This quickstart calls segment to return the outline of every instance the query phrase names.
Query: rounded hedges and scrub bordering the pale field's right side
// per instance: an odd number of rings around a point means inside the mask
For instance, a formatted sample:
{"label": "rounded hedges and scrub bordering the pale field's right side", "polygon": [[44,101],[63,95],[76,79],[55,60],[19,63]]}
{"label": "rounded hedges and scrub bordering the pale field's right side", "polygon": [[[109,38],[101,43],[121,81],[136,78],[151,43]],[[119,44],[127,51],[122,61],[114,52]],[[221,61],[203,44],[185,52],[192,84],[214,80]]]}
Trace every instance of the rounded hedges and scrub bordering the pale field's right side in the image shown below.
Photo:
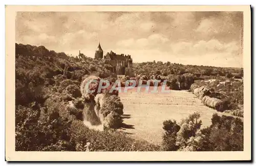
{"label": "rounded hedges and scrub bordering the pale field's right side", "polygon": [[219,80],[212,82],[198,81],[189,91],[198,96],[202,102],[219,112],[226,111],[234,116],[243,117],[243,82],[229,80],[220,84]]}

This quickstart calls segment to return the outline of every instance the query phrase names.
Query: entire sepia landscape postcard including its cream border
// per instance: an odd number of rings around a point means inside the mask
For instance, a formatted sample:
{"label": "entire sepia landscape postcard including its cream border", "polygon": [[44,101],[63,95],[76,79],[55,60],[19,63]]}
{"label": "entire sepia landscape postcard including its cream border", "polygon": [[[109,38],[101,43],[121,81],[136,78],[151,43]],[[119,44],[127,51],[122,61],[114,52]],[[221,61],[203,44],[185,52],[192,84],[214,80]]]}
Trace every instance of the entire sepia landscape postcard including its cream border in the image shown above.
{"label": "entire sepia landscape postcard including its cream border", "polygon": [[251,159],[250,6],[6,12],[7,160]]}

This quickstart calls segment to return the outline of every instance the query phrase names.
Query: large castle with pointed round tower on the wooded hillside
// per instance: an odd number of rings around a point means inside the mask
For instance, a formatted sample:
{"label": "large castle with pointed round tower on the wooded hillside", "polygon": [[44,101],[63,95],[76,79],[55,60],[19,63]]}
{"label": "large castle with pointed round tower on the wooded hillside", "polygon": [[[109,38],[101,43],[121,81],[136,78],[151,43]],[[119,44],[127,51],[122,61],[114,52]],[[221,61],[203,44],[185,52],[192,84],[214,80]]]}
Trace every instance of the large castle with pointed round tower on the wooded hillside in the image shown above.
{"label": "large castle with pointed round tower on the wooded hillside", "polygon": [[116,72],[117,75],[131,75],[132,73],[133,59],[130,55],[126,56],[110,51],[103,56],[100,43],[95,51],[95,59],[103,59],[105,64],[113,66],[113,71]]}

